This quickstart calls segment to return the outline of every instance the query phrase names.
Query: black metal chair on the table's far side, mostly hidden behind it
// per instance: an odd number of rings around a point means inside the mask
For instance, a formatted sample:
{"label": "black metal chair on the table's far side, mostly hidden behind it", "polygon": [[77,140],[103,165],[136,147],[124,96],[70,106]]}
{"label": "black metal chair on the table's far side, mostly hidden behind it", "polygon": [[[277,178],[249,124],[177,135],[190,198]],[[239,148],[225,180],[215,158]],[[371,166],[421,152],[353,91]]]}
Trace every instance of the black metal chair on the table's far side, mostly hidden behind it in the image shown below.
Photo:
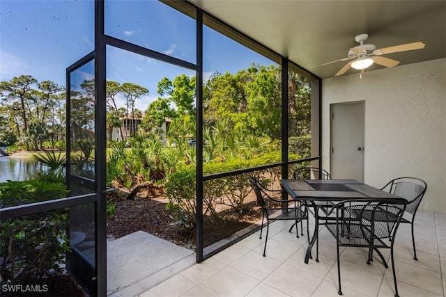
{"label": "black metal chair on the table's far side, mostly hidden behind it", "polygon": [[[293,179],[331,179],[330,173],[328,173],[326,170],[323,170],[321,168],[316,167],[303,167],[298,168],[294,170],[293,172]],[[308,202],[304,202],[304,205],[307,209],[309,209],[310,204]],[[319,216],[319,222],[321,222],[321,225],[325,225],[325,223],[328,223],[328,209],[332,207],[333,203],[330,201],[313,201],[311,203],[311,206],[314,208],[314,211],[321,210],[323,215]],[[308,233],[308,221],[307,221],[307,233]],[[319,255],[319,240],[316,239],[316,262],[319,262],[318,259]],[[310,255],[310,257],[312,257]]]}

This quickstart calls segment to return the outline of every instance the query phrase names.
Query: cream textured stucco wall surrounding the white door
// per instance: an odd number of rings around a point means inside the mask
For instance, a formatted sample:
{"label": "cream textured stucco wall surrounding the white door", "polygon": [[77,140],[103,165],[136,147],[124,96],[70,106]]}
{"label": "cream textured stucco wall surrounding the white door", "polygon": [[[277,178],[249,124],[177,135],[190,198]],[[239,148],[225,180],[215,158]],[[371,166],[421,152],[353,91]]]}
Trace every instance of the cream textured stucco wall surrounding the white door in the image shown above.
{"label": "cream textured stucco wall surrounding the white door", "polygon": [[420,209],[446,214],[446,58],[325,79],[323,168],[330,168],[330,104],[364,100],[364,182],[424,179]]}

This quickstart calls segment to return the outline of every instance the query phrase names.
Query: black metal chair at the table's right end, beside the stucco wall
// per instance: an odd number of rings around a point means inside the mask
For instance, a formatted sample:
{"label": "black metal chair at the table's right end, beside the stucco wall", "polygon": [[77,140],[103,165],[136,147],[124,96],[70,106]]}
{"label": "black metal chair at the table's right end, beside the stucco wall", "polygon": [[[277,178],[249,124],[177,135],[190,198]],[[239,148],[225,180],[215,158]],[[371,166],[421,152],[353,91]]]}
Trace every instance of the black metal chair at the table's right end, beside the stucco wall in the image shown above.
{"label": "black metal chair at the table's right end, beside the stucco wall", "polygon": [[398,177],[388,182],[382,190],[388,191],[401,198],[409,201],[406,206],[406,211],[412,214],[411,218],[402,218],[401,223],[410,223],[412,229],[412,243],[413,243],[413,259],[418,260],[417,250],[415,249],[415,236],[413,234],[413,222],[415,214],[417,214],[418,206],[426,193],[427,184],[424,180],[417,177]]}

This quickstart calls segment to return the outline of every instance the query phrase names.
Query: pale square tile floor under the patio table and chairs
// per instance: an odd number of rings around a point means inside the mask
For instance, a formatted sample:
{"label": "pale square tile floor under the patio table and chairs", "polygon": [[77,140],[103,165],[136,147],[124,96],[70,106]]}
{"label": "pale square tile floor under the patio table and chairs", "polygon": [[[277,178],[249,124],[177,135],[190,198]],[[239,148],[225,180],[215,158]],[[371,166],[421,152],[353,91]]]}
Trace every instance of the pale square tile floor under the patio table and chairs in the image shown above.
{"label": "pale square tile floor under the patio table and chairs", "polygon": [[[257,232],[139,297],[338,296],[336,245],[328,230],[323,227],[320,232],[320,262],[310,259],[305,264],[307,240],[297,239],[288,227],[286,221],[270,225],[266,257],[265,239]],[[401,224],[394,246],[399,295],[445,296],[446,214],[419,211],[415,239],[418,261],[413,260],[410,225]],[[390,250],[383,250],[383,255],[390,262]],[[392,269],[385,269],[378,259],[367,265],[366,258],[366,250],[341,250],[344,296],[394,296]]]}

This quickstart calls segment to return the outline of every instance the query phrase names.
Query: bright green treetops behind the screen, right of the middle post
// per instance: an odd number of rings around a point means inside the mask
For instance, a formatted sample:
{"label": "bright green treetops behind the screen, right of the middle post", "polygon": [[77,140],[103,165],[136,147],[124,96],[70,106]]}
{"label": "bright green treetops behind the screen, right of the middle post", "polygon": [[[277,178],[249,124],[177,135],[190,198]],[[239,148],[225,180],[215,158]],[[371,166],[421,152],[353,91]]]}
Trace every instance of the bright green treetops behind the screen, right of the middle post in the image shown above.
{"label": "bright green treetops behind the screen, right of the middle post", "polygon": [[[279,66],[253,64],[236,74],[213,74],[203,86],[206,122],[229,118],[234,129],[241,128],[249,134],[271,139],[280,138],[281,71]],[[290,136],[308,134],[311,88],[307,79],[291,71],[288,100]]]}

